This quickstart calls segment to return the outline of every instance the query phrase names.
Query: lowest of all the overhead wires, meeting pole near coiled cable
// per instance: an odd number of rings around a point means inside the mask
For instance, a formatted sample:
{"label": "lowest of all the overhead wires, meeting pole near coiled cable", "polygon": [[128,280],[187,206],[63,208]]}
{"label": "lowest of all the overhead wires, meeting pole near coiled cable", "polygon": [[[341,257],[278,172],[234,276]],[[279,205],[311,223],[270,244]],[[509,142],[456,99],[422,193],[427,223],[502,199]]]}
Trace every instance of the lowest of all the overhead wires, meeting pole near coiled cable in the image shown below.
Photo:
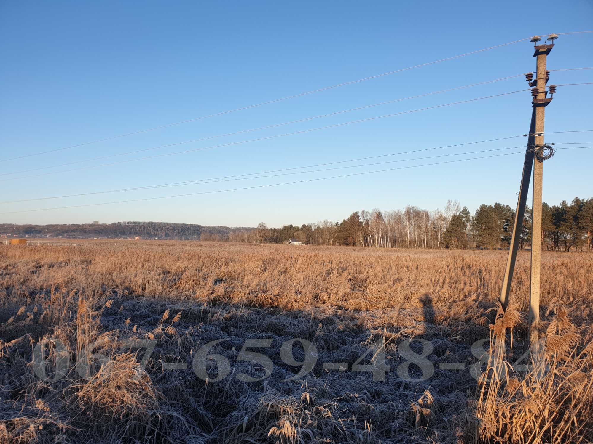
{"label": "lowest of all the overhead wires, meeting pole near coiled cable", "polygon": [[[575,148],[577,148],[577,147],[575,147]],[[585,147],[578,147],[578,148],[585,148]],[[65,210],[68,208],[96,207],[98,205],[124,204],[124,203],[129,203],[129,202],[142,202],[142,201],[151,201],[151,200],[159,200],[159,199],[169,199],[169,198],[175,198],[175,197],[188,197],[188,196],[196,196],[196,195],[202,195],[202,194],[214,194],[214,193],[219,193],[219,192],[240,191],[240,190],[244,190],[244,189],[268,188],[270,186],[303,184],[305,182],[324,181],[324,180],[329,180],[329,179],[361,176],[361,175],[372,174],[372,173],[381,173],[381,172],[395,171],[395,170],[402,170],[402,169],[419,168],[421,166],[444,165],[445,163],[466,162],[467,160],[488,159],[491,157],[510,156],[510,155],[521,154],[521,153],[522,153],[522,151],[518,151],[518,152],[514,152],[514,153],[497,154],[497,155],[491,155],[491,156],[469,157],[468,159],[456,159],[456,160],[447,160],[445,162],[423,163],[420,165],[409,165],[409,166],[401,166],[398,168],[388,168],[388,169],[382,169],[382,170],[365,171],[365,172],[360,172],[360,173],[350,173],[350,174],[339,175],[339,176],[330,176],[330,177],[315,178],[315,179],[305,179],[302,181],[282,182],[279,184],[255,185],[255,186],[246,186],[246,187],[242,187],[242,188],[219,189],[219,190],[215,190],[215,191],[201,191],[201,192],[195,192],[195,193],[176,194],[176,195],[159,196],[159,197],[148,197],[148,198],[123,200],[123,201],[99,202],[99,203],[95,203],[95,204],[69,205],[69,206],[65,206],[65,207],[38,208],[36,210],[3,211],[3,212],[0,212],[0,214],[31,213],[31,212],[36,212],[36,211]]]}

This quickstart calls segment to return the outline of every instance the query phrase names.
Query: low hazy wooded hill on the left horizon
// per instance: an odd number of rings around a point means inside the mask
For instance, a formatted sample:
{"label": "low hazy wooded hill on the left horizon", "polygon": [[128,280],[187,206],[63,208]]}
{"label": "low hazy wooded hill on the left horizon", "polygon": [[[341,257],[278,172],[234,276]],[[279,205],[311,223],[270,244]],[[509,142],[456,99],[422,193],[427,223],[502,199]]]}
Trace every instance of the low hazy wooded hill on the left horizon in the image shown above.
{"label": "low hazy wooded hill on the left horizon", "polygon": [[65,225],[15,225],[0,224],[0,235],[14,237],[66,237],[70,239],[171,239],[200,240],[215,237],[227,240],[229,234],[253,228],[207,227],[197,224],[174,224],[168,222],[116,222],[112,224],[65,224]]}

